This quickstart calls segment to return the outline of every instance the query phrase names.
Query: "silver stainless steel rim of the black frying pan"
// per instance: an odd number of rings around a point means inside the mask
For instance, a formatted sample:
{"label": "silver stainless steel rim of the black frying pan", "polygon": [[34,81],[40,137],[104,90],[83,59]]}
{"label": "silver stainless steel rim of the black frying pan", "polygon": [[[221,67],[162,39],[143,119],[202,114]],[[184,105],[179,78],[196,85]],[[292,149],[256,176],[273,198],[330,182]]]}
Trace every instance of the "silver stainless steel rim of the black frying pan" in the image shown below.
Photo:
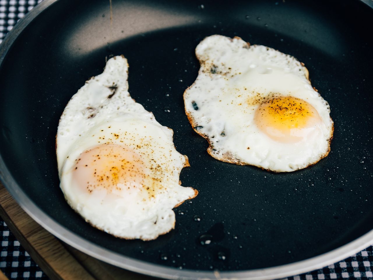
{"label": "silver stainless steel rim of the black frying pan", "polygon": [[[3,62],[7,52],[10,50],[10,47],[15,42],[18,35],[21,34],[23,29],[25,29],[35,17],[37,17],[41,12],[47,9],[48,6],[56,1],[58,0],[44,0],[38,4],[15,25],[9,34],[7,34],[3,43],[0,45],[0,65]],[[108,249],[104,249],[92,242],[88,242],[82,237],[79,237],[69,229],[62,227],[59,223],[41,211],[41,209],[38,208],[38,206],[33,203],[29,197],[25,195],[25,193],[22,192],[22,188],[16,183],[15,179],[10,174],[10,171],[5,166],[1,156],[0,178],[5,184],[7,190],[19,203],[22,209],[25,210],[25,212],[30,215],[30,217],[33,218],[38,224],[63,242],[73,246],[76,249],[79,249],[84,253],[87,253],[90,256],[93,256],[94,258],[100,259],[112,265],[116,265],[117,267],[154,277],[162,277],[165,279],[278,279],[325,267],[341,261],[342,259],[347,258],[348,256],[351,256],[373,244],[373,230],[371,230],[358,239],[355,239],[354,241],[328,253],[310,259],[305,259],[304,261],[294,262],[292,264],[277,267],[233,272],[192,271],[162,267],[160,265],[149,264],[133,258],[128,258]]]}

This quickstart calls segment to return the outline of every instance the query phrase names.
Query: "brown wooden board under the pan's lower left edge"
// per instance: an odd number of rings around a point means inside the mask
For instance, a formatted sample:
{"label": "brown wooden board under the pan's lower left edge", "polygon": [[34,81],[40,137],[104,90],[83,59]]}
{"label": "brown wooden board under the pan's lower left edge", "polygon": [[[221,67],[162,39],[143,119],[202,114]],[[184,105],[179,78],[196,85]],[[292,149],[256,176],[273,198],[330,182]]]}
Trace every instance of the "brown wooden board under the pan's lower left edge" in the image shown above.
{"label": "brown wooden board under the pan's lower left edge", "polygon": [[[63,243],[32,220],[1,183],[0,216],[31,258],[52,280],[155,279],[107,264]],[[6,276],[1,274],[0,271],[0,280],[6,280]]]}

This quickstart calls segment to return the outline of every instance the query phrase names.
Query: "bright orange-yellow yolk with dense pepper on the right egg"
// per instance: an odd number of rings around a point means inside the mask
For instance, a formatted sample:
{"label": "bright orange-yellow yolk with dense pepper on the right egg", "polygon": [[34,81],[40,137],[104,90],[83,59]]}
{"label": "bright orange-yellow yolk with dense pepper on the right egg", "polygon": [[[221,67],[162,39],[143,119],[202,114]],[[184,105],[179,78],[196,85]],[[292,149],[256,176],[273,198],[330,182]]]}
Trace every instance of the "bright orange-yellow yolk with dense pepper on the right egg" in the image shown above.
{"label": "bright orange-yellow yolk with dense pepper on the right egg", "polygon": [[319,113],[310,103],[292,96],[261,103],[254,118],[261,131],[283,143],[301,141],[322,123]]}

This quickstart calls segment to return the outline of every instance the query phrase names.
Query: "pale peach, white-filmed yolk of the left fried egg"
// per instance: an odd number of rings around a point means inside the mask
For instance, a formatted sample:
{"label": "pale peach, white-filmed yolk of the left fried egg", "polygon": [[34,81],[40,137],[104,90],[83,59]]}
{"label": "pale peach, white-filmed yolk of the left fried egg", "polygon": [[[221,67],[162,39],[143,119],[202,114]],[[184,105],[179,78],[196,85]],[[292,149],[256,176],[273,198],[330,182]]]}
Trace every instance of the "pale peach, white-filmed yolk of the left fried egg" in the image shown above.
{"label": "pale peach, white-filmed yolk of the left fried egg", "polygon": [[72,178],[82,191],[89,193],[96,189],[106,189],[107,193],[138,192],[143,190],[146,177],[143,166],[131,150],[115,144],[101,145],[81,153]]}

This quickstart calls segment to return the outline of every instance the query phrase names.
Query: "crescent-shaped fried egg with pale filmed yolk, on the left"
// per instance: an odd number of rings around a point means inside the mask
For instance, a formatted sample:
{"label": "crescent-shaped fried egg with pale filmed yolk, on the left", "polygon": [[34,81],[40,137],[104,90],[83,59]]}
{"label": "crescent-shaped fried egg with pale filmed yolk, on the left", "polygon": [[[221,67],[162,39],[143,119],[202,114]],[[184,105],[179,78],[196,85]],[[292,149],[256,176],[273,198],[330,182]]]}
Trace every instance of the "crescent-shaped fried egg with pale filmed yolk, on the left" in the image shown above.
{"label": "crescent-shaped fried egg with pale filmed yolk, on the left", "polygon": [[188,158],[173,131],[131,98],[127,76],[127,60],[115,56],[70,99],[56,136],[60,187],[94,227],[152,240],[175,227],[172,208],[198,192],[179,184]]}

